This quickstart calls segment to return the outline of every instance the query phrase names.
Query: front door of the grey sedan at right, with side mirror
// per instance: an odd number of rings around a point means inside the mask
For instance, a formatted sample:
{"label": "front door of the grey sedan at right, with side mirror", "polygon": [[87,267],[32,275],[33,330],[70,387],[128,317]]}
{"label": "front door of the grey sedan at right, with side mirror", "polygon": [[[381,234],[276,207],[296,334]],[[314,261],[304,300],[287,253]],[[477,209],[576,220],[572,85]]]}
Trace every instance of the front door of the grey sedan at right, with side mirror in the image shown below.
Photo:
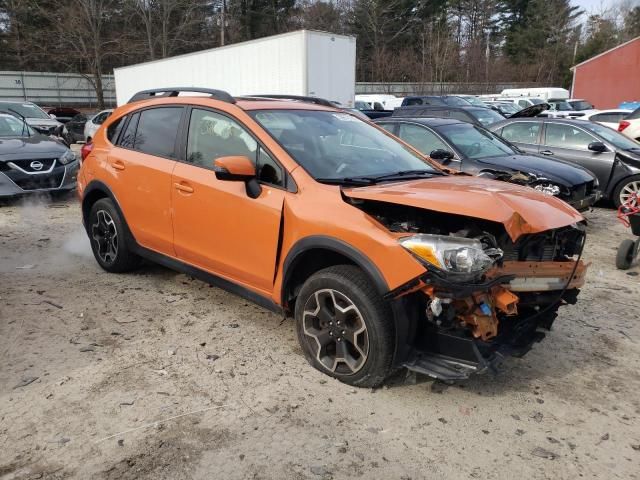
{"label": "front door of the grey sedan at right, with side mirror", "polygon": [[591,142],[601,140],[576,125],[546,121],[540,153],[576,163],[590,170],[598,177],[601,189],[606,191],[616,154],[611,150],[593,152],[588,148]]}

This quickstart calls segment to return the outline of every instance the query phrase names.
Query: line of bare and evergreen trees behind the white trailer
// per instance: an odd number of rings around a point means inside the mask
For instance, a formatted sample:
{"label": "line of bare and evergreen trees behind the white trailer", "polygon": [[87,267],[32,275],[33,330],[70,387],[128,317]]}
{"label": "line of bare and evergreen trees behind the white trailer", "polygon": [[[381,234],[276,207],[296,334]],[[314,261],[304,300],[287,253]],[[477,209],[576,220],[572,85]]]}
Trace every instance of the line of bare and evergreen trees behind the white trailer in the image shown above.
{"label": "line of bare and evergreen trees behind the white trailer", "polygon": [[0,69],[114,67],[301,28],[355,35],[357,79],[567,85],[569,67],[640,35],[640,0],[0,0]]}

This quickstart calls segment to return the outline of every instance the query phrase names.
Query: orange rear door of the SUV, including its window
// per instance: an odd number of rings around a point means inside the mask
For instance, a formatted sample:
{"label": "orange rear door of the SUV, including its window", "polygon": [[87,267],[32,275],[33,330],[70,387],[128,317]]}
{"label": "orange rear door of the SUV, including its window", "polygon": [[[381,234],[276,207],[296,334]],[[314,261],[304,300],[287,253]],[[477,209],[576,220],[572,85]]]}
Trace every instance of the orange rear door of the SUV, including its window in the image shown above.
{"label": "orange rear door of the SUV, including its window", "polygon": [[171,174],[183,112],[181,106],[162,106],[128,115],[107,156],[109,185],[136,241],[171,256]]}

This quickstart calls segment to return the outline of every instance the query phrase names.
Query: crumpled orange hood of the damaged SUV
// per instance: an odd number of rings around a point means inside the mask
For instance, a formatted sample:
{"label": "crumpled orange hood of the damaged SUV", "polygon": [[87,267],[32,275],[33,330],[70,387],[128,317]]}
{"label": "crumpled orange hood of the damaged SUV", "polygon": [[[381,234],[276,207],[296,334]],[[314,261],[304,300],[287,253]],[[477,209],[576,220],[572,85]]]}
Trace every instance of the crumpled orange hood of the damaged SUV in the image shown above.
{"label": "crumpled orange hood of the damaged SUV", "polygon": [[528,187],[478,177],[446,176],[346,188],[354,199],[395,203],[502,223],[513,241],[583,219],[562,200]]}

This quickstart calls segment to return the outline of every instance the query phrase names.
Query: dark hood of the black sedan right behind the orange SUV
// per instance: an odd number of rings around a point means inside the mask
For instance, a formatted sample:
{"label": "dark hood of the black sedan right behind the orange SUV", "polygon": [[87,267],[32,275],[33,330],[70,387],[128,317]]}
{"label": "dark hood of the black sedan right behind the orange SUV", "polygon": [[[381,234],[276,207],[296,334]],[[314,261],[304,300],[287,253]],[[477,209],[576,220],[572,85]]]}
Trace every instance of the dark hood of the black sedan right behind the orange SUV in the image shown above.
{"label": "dark hood of the black sedan right behind the orange SUV", "polygon": [[591,182],[595,178],[585,168],[538,155],[504,155],[474,161],[481,168],[493,167],[508,172],[532,173],[569,188]]}

